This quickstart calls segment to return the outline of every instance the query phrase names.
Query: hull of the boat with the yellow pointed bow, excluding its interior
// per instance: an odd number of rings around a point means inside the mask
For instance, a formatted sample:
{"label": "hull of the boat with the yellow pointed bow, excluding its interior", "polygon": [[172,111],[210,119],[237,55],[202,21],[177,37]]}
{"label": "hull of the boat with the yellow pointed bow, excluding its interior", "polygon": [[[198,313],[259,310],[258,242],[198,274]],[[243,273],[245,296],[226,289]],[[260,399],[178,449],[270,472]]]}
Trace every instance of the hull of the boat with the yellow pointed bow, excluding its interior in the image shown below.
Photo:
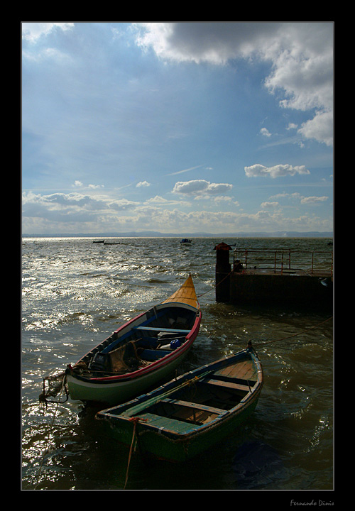
{"label": "hull of the boat with the yellow pointed bow, excluding its interior", "polygon": [[[180,323],[184,320],[185,314],[185,329],[180,329],[181,327],[174,328],[174,324],[170,322],[166,326],[169,319],[173,320],[174,314],[178,314],[176,322],[179,321]],[[201,319],[202,312],[197,302],[195,287],[190,275],[180,289],[168,300],[122,325],[108,339],[105,339],[99,346],[82,357],[74,367],[67,366],[65,378],[70,397],[72,400],[103,402],[111,406],[140,395],[175,371],[190,351],[200,330]],[[163,320],[165,320],[164,325],[162,324]],[[153,321],[156,322],[154,323],[155,326],[153,326]],[[94,354],[98,351],[110,353],[116,346],[121,346],[122,343],[129,344],[132,332],[137,330],[142,336],[137,343],[147,339],[145,336],[147,330],[151,331],[149,335],[153,335],[153,331],[155,331],[155,334],[156,331],[163,331],[170,335],[175,335],[176,332],[176,335],[180,335],[179,339],[184,340],[176,348],[174,346],[167,350],[163,346],[162,351],[155,350],[156,356],[154,355],[153,359],[146,359],[148,364],[143,364],[143,366],[131,372],[117,372],[114,375],[104,375],[103,372],[102,376],[98,376],[94,373],[88,375],[87,372],[80,370],[80,363],[88,367],[88,363],[92,361]],[[156,341],[156,337],[154,340]],[[148,349],[147,351],[151,350]]]}

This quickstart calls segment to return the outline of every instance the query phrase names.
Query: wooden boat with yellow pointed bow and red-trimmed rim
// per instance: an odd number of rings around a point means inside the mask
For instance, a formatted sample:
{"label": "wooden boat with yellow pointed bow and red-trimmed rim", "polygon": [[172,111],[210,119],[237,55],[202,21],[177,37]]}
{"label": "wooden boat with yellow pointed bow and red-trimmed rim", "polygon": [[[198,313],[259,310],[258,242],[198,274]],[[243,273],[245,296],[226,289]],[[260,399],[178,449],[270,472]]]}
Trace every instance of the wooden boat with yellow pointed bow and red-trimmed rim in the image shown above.
{"label": "wooden boat with yellow pointed bow and red-trimmed rim", "polygon": [[189,275],[167,300],[130,319],[65,372],[44,378],[48,390],[43,389],[40,400],[53,396],[55,380],[60,383],[63,378],[72,400],[113,406],[140,395],[178,368],[197,337],[201,319]]}

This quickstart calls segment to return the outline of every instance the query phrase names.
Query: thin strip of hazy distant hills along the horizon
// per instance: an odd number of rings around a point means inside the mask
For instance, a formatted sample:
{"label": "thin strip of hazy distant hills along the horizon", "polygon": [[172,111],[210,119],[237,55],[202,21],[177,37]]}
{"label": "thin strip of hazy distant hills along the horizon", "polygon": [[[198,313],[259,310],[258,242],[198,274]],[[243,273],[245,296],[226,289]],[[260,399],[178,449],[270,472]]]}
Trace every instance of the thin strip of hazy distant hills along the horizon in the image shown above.
{"label": "thin strip of hazy distant hills along the horizon", "polygon": [[125,232],[125,233],[58,233],[58,234],[23,234],[23,238],[332,238],[333,233],[329,232],[297,232],[297,231],[275,231],[268,232],[236,232],[236,233],[160,233],[157,231]]}

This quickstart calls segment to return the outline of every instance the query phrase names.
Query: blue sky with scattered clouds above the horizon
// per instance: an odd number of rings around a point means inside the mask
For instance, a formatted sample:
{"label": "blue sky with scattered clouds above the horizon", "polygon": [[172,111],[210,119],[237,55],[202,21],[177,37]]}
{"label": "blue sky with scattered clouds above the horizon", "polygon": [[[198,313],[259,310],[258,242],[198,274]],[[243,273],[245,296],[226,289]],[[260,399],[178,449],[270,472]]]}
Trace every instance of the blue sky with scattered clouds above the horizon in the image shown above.
{"label": "blue sky with scattered clouds above the horizon", "polygon": [[333,229],[333,22],[22,23],[22,232]]}

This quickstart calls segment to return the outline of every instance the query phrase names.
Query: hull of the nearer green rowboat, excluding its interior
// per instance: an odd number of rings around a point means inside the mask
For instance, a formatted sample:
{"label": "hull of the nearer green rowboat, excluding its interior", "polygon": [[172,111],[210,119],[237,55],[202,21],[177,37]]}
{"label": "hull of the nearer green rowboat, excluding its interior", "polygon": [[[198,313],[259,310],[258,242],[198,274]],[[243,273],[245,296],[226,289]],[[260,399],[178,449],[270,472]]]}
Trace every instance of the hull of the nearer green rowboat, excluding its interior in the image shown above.
{"label": "hull of the nearer green rowboat, excluding its interior", "polygon": [[[256,368],[256,381],[253,387],[246,393],[245,397],[230,410],[215,410],[218,414],[214,419],[210,420],[204,425],[193,424],[192,422],[185,422],[182,417],[178,420],[169,419],[165,417],[154,415],[152,411],[152,402],[157,405],[158,400],[164,402],[166,396],[174,397],[174,390],[182,385],[183,381],[197,381],[200,378],[202,382],[206,378],[204,375],[211,369],[226,367],[234,359],[241,358],[246,354],[246,351],[237,353],[234,356],[222,359],[217,363],[209,366],[204,366],[199,370],[191,371],[187,375],[172,380],[170,383],[161,386],[160,388],[150,392],[145,396],[136,398],[129,403],[125,403],[121,407],[115,407],[109,410],[102,410],[97,413],[97,419],[102,422],[104,431],[106,430],[109,436],[119,441],[121,444],[130,445],[133,439],[133,434],[136,434],[139,451],[149,455],[153,455],[160,459],[168,461],[187,461],[205,451],[209,447],[217,444],[217,442],[224,439],[226,436],[236,432],[236,429],[243,424],[246,419],[254,412],[258,403],[258,398],[263,386],[263,372],[261,363],[258,361],[256,353],[249,350],[249,355],[253,359]],[[208,375],[207,375],[208,376]],[[197,391],[198,392],[198,391]],[[176,392],[175,392],[176,393]],[[146,402],[146,408],[144,403]],[[174,402],[174,400],[173,400]],[[175,401],[177,402],[177,401]],[[184,401],[185,403],[185,401]],[[155,406],[154,405],[154,406]],[[192,405],[192,403],[187,403]],[[206,410],[214,410],[210,407],[197,405],[197,407],[205,408]],[[140,410],[138,412],[138,410]],[[135,429],[136,428],[136,429]]]}

